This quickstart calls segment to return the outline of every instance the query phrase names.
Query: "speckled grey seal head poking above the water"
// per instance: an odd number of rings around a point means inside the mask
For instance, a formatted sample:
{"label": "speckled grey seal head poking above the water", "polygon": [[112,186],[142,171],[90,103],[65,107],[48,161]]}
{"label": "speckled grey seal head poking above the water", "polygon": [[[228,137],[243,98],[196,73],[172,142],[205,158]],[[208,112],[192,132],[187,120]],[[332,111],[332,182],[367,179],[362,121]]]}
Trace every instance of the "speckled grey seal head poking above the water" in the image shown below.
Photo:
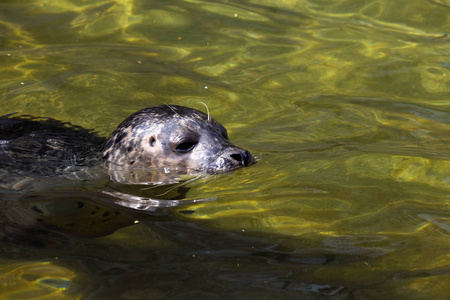
{"label": "speckled grey seal head poking above the water", "polygon": [[187,174],[223,173],[256,162],[247,150],[230,142],[220,123],[176,105],[132,114],[111,134],[102,154],[115,166]]}

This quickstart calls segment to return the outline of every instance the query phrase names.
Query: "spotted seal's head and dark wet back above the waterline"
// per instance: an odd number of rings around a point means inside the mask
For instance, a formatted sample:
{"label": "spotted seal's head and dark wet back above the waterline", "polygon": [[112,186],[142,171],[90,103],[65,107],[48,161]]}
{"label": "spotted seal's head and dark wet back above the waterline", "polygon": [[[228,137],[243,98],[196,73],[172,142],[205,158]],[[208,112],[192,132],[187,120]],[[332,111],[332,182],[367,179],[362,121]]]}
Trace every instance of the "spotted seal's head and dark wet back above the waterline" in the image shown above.
{"label": "spotted seal's head and dark wet back above the waterline", "polygon": [[[11,115],[0,118],[2,187],[13,185],[21,190],[25,183],[38,185],[42,178],[90,180],[95,177],[94,170],[104,169],[102,160],[107,161],[113,181],[133,184],[173,183],[175,180],[152,176],[217,174],[256,162],[247,150],[230,142],[221,124],[183,106],[142,109],[125,119],[108,139],[54,119]],[[150,170],[152,176],[136,180],[136,174]]]}

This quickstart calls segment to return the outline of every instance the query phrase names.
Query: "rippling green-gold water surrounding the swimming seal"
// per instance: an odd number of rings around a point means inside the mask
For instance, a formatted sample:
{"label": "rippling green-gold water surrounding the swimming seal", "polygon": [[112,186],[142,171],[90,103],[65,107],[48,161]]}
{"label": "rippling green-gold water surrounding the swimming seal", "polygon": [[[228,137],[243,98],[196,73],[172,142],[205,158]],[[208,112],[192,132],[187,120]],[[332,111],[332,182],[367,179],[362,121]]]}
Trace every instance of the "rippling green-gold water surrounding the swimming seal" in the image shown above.
{"label": "rippling green-gold water surrounding the swimming seal", "polygon": [[2,242],[0,298],[448,299],[447,34],[447,0],[1,1],[2,115],[106,136],[205,102],[258,164],[113,234]]}

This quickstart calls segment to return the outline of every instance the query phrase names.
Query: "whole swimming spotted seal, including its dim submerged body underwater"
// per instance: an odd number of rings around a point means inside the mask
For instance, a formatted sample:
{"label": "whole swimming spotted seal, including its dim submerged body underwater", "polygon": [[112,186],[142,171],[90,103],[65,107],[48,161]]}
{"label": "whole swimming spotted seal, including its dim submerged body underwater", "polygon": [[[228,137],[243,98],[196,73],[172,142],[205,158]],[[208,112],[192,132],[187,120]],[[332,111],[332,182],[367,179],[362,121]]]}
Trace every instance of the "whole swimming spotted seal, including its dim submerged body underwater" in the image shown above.
{"label": "whole swimming spotted seal, including its dim submerged body underwater", "polygon": [[0,117],[0,241],[42,247],[52,240],[48,233],[104,236],[133,225],[136,211],[211,200],[184,199],[189,188],[176,185],[180,174],[254,163],[221,124],[182,106],[140,110],[108,139],[54,119],[6,115]]}

